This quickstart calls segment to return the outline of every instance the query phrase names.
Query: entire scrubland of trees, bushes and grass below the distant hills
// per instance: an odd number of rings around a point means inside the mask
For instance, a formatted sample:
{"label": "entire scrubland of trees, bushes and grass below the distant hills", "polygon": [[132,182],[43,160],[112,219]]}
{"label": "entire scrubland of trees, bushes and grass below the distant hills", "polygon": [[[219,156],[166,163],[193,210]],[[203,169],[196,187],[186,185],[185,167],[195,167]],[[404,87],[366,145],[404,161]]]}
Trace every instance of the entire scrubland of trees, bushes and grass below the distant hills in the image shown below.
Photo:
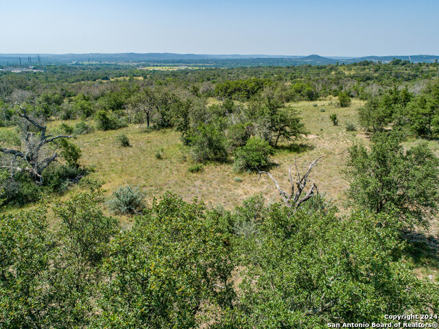
{"label": "entire scrubland of trees, bushes and grass below the distant hills", "polygon": [[1,71],[0,328],[438,314],[437,69]]}

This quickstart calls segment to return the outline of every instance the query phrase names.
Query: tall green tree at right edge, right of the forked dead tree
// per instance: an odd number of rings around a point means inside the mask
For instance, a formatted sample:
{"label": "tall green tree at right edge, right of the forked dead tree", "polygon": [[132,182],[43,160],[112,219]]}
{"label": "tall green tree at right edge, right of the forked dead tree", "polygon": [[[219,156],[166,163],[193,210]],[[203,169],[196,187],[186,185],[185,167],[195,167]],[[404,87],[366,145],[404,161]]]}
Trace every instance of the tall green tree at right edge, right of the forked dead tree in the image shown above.
{"label": "tall green tree at right edge, right of the forked dead tree", "polygon": [[364,145],[348,149],[348,196],[361,208],[394,213],[407,227],[427,226],[438,210],[438,158],[427,144],[405,150],[401,132],[378,133],[370,151]]}

